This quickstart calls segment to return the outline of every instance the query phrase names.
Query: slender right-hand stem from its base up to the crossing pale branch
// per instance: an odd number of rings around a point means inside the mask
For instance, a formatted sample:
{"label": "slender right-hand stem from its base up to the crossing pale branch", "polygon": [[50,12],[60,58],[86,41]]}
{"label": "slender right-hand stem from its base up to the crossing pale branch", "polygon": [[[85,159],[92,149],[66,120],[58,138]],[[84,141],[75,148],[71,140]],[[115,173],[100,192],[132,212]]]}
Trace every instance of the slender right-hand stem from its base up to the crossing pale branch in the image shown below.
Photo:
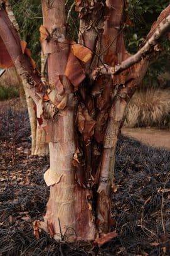
{"label": "slender right-hand stem from its base up to the crossing pale branch", "polygon": [[[100,167],[100,179],[98,184],[98,202],[97,218],[98,230],[101,233],[107,233],[112,223],[111,202],[114,190],[114,166],[115,166],[115,148],[121,128],[124,123],[124,113],[136,88],[141,84],[144,75],[147,72],[149,62],[144,60],[137,67],[135,79],[126,84],[119,94],[115,97],[112,108],[110,109],[109,121],[104,138],[104,152]],[[138,75],[140,74],[140,75]]]}

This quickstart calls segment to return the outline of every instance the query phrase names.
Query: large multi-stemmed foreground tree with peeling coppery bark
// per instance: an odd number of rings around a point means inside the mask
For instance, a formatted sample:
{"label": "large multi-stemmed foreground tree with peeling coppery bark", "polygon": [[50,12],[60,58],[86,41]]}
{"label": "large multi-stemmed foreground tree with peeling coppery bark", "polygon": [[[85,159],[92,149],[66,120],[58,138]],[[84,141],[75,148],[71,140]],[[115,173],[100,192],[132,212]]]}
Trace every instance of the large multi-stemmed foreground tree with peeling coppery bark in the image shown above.
{"label": "large multi-stemmed foreground tree with peeling coppery bark", "polygon": [[50,198],[44,221],[35,222],[56,240],[95,241],[116,236],[112,229],[115,147],[124,111],[170,30],[170,5],[160,14],[139,51],[125,50],[124,0],[76,0],[77,42],[68,38],[65,1],[42,0],[40,41],[48,58],[48,83],[40,74],[1,0],[1,65],[16,70],[36,105],[45,130],[50,169],[44,178]]}

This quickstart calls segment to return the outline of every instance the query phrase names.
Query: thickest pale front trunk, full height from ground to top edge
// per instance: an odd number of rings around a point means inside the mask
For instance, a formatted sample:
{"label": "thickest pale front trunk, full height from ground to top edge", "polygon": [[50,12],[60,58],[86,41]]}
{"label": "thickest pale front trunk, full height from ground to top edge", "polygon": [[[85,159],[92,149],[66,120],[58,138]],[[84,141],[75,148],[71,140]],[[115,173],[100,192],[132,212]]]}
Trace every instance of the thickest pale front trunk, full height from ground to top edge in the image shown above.
{"label": "thickest pale front trunk, full height from ground to top edge", "polygon": [[[46,229],[53,230],[56,239],[94,240],[96,230],[88,202],[90,192],[75,181],[75,167],[72,164],[76,150],[74,123],[77,103],[70,81],[65,76],[70,52],[65,38],[65,1],[55,1],[50,6],[42,0],[42,7],[45,29],[53,36],[51,42],[44,41],[45,45],[42,43],[44,54],[48,54],[51,89],[48,96],[60,109],[57,118],[48,121],[45,128],[50,142],[50,169],[45,173],[46,184],[50,186],[45,215]],[[53,42],[56,46],[51,51]]]}

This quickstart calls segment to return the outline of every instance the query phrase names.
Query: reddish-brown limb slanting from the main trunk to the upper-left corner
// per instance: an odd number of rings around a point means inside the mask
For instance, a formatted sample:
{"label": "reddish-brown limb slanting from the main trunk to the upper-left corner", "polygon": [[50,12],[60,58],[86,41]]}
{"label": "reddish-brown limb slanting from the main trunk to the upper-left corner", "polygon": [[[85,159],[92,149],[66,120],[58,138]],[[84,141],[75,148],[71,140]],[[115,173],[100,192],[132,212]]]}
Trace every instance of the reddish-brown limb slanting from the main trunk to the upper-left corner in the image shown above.
{"label": "reddish-brown limb slanting from the main trunk to the upper-left corner", "polygon": [[35,103],[38,103],[43,98],[43,92],[41,92],[43,91],[43,84],[41,83],[40,77],[35,74],[29,58],[23,55],[18,33],[14,30],[3,8],[0,9],[0,25],[1,40],[5,50],[8,52],[21,80],[26,85],[29,95]]}

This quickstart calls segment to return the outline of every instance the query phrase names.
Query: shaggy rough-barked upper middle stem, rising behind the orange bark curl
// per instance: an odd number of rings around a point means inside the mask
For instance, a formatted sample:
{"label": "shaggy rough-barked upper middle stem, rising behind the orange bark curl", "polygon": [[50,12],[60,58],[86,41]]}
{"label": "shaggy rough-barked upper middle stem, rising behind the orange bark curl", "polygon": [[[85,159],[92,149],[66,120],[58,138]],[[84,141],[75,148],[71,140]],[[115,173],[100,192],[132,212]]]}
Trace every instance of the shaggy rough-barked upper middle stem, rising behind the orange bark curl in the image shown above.
{"label": "shaggy rough-barked upper middle stem, rising behind the orange bark curl", "polygon": [[[104,26],[105,1],[77,1],[76,10],[79,12],[80,28],[78,43],[90,48],[94,53],[93,59],[86,64],[87,71],[101,65],[102,58],[98,58],[101,47],[101,36]],[[103,63],[103,62],[102,62]]]}

